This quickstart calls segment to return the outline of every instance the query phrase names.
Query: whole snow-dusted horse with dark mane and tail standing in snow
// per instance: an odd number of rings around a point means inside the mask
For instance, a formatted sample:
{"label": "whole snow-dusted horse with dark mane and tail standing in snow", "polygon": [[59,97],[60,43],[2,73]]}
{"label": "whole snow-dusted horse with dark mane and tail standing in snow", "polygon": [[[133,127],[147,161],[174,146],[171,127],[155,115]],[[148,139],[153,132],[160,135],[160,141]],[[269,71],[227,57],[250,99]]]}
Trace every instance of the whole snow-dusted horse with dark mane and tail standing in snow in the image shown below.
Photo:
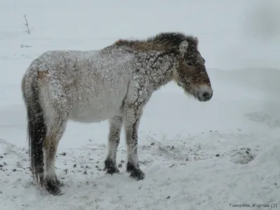
{"label": "whole snow-dusted horse with dark mane and tail standing in snow", "polygon": [[53,195],[61,191],[55,154],[68,120],[109,120],[109,151],[104,162],[109,174],[119,172],[116,153],[124,125],[127,172],[134,179],[144,179],[137,132],[153,92],[174,80],[200,102],[213,95],[197,45],[193,36],[161,33],[144,41],[119,40],[97,51],[49,51],[31,62],[22,78],[22,95],[35,181]]}

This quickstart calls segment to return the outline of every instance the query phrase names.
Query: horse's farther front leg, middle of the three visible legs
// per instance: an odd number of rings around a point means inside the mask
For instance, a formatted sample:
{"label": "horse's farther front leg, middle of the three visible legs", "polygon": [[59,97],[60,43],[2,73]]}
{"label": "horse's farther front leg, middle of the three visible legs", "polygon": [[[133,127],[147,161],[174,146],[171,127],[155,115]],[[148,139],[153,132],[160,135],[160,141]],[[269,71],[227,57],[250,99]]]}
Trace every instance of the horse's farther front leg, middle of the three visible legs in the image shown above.
{"label": "horse's farther front leg, middle of the three visible legs", "polygon": [[121,116],[113,117],[110,120],[110,129],[109,129],[109,151],[108,156],[104,162],[107,174],[119,173],[116,162],[118,145],[120,144],[120,130],[123,125],[123,118]]}

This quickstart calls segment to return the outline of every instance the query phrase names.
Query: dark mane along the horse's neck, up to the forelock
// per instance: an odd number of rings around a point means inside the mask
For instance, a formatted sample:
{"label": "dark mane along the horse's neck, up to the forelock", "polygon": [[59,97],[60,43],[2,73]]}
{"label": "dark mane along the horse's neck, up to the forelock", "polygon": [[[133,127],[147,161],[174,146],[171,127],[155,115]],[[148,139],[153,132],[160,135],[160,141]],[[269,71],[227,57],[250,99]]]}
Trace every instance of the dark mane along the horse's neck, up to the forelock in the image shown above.
{"label": "dark mane along the horse's neck, up to the forelock", "polygon": [[164,32],[147,38],[146,40],[125,40],[116,41],[118,46],[127,46],[134,50],[160,50],[179,53],[179,45],[182,41],[188,41],[190,48],[197,48],[197,40],[194,36],[187,36],[179,32]]}

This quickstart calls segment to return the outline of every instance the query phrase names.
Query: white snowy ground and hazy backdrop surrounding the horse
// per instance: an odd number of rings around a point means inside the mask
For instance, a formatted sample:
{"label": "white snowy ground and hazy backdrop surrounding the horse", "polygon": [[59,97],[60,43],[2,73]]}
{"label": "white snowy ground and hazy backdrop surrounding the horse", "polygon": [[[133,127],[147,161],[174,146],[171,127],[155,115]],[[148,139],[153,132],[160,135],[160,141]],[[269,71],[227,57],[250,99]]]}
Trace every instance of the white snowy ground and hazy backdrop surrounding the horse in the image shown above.
{"label": "white snowy ground and hazy backdrop surrounding the horse", "polygon": [[[0,210],[280,208],[279,8],[276,0],[0,0]],[[34,186],[20,91],[29,63],[47,50],[99,50],[162,31],[198,36],[211,101],[175,83],[153,94],[139,127],[143,181],[125,172],[123,133],[123,167],[111,176],[102,170],[108,122],[70,122],[56,160],[64,194]]]}

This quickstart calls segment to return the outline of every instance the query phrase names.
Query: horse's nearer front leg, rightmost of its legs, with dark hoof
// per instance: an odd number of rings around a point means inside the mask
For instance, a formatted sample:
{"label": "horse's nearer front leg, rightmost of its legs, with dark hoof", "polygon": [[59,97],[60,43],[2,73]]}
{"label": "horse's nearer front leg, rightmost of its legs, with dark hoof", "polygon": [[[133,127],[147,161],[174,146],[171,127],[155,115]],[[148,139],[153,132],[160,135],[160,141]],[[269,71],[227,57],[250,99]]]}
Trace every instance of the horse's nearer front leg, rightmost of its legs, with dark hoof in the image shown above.
{"label": "horse's nearer front leg, rightmost of its legs, with dark hoof", "polygon": [[139,167],[137,154],[138,148],[138,127],[143,107],[135,104],[125,104],[125,134],[127,142],[127,172],[136,180],[142,180],[145,174]]}

